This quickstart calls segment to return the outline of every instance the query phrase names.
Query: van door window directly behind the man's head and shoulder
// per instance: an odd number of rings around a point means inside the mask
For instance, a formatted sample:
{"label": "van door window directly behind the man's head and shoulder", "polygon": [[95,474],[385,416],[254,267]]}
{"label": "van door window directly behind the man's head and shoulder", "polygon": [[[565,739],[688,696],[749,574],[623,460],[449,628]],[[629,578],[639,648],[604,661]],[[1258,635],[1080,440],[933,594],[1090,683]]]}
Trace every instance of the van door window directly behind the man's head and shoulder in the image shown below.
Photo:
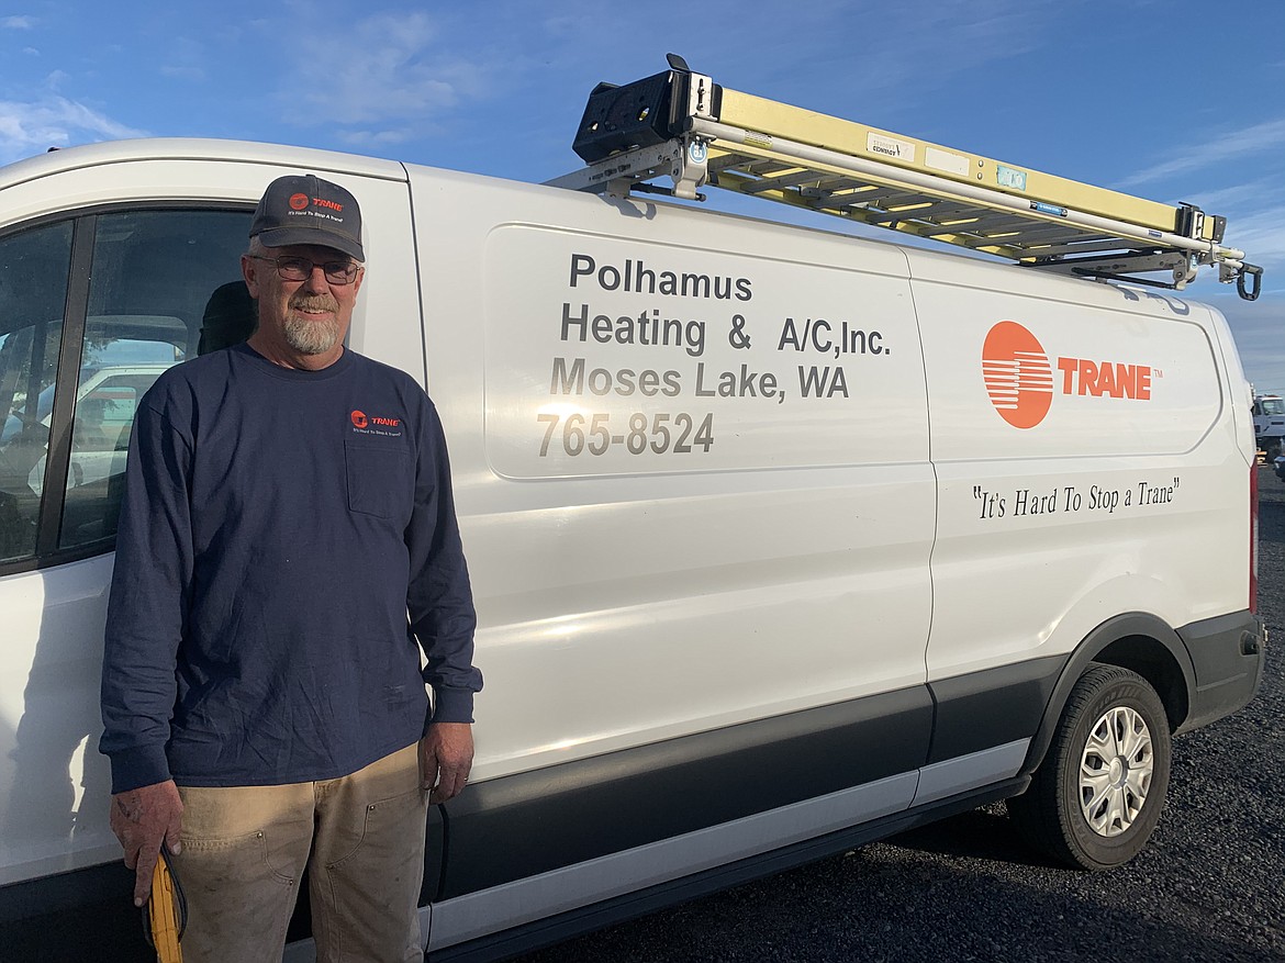
{"label": "van door window directly behind the man's head and shoulder", "polygon": [[249,214],[103,214],[80,360],[59,548],[116,534],[139,401],[167,367],[195,357],[215,291],[240,281]]}

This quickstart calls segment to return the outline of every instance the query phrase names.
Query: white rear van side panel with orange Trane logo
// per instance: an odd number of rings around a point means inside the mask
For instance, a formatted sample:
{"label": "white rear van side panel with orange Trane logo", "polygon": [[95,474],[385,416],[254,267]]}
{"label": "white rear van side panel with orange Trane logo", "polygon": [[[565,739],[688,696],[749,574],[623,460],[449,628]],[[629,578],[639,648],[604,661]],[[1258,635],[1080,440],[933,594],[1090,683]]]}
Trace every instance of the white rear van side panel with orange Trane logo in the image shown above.
{"label": "white rear van side panel with orange Trane logo", "polygon": [[1246,605],[1248,507],[1200,306],[911,254],[937,466],[933,679],[1108,618]]}

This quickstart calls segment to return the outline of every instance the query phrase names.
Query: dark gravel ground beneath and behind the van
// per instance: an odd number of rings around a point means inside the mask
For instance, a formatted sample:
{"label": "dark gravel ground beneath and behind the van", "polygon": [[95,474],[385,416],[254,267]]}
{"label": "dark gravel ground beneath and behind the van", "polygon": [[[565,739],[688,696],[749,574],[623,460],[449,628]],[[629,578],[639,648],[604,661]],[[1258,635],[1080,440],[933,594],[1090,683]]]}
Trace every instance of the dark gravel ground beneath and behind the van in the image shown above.
{"label": "dark gravel ground beneath and behind the van", "polygon": [[1285,962],[1285,484],[1259,473],[1263,686],[1176,740],[1164,817],[1132,863],[1051,868],[998,804],[519,963]]}

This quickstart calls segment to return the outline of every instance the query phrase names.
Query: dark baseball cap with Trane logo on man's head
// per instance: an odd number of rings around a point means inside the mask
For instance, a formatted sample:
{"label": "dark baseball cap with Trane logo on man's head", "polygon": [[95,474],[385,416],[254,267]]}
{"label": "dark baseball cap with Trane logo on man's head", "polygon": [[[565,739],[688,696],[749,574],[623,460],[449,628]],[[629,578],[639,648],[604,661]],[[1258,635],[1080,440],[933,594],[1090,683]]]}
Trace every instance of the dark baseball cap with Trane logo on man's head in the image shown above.
{"label": "dark baseball cap with Trane logo on man's head", "polygon": [[361,208],[338,184],[315,173],[287,175],[267,185],[254,211],[249,236],[265,248],[320,244],[365,261]]}

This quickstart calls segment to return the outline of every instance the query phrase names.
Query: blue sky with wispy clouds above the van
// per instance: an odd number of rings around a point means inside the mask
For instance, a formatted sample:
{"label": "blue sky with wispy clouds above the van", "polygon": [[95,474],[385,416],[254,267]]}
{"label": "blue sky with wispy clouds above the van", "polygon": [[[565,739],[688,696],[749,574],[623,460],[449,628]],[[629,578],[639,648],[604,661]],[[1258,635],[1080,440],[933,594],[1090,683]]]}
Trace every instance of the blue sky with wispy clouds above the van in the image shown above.
{"label": "blue sky with wispy clouds above the van", "polygon": [[592,86],[671,50],[736,90],[1227,217],[1262,298],[1213,271],[1187,294],[1285,393],[1282,0],[22,0],[0,6],[0,163],[207,136],[542,181],[580,164]]}

